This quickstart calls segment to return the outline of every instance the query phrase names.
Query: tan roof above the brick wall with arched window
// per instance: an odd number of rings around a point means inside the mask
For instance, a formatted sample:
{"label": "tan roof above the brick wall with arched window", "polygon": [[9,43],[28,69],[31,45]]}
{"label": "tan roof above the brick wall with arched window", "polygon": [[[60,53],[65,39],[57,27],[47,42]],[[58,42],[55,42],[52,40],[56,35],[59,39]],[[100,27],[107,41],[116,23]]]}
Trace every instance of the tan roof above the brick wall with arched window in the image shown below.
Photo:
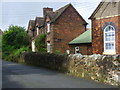
{"label": "tan roof above the brick wall with arched window", "polygon": [[100,4],[92,13],[89,19],[120,15],[119,8],[120,8],[120,0],[118,0],[117,2],[107,2],[106,0],[104,0],[100,2]]}

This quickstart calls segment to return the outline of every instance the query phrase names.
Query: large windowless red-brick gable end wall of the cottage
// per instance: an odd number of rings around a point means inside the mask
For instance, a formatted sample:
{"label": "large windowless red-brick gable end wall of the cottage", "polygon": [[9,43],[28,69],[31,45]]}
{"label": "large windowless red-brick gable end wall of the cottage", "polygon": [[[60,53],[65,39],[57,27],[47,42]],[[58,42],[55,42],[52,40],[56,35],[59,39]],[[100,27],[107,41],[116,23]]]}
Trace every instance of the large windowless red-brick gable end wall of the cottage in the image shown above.
{"label": "large windowless red-brick gable end wall of the cottage", "polygon": [[51,26],[53,51],[66,53],[66,50],[70,50],[68,43],[85,31],[83,23],[78,13],[68,7]]}

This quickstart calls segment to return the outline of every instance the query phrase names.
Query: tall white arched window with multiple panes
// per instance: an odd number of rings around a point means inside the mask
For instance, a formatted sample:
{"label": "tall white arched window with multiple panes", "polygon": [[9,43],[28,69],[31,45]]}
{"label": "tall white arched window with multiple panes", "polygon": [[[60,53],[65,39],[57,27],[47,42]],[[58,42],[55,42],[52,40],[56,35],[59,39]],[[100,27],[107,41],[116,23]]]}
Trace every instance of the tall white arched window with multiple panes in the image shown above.
{"label": "tall white arched window with multiple panes", "polygon": [[[107,29],[109,29],[109,27],[113,28],[113,30],[106,31]],[[110,35],[110,33],[113,34],[114,36],[109,36],[109,37],[107,36],[108,37],[107,38],[106,34]],[[107,41],[106,39],[110,39],[110,40]],[[113,49],[112,49],[112,46],[107,47],[106,46],[107,43],[108,44],[113,44]],[[108,25],[104,29],[104,53],[108,54],[108,53],[115,53],[115,52],[116,52],[116,50],[115,50],[115,28],[113,26],[111,26],[111,25]]]}

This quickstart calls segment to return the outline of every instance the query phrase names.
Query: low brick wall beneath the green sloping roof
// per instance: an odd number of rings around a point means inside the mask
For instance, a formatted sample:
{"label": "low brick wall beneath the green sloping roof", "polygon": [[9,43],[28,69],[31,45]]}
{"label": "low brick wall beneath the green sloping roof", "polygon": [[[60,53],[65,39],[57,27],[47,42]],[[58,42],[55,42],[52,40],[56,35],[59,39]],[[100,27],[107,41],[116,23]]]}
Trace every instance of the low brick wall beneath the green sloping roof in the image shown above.
{"label": "low brick wall beneath the green sloping roof", "polygon": [[79,47],[79,53],[82,55],[92,54],[92,44],[70,45],[70,53],[75,54],[75,47]]}

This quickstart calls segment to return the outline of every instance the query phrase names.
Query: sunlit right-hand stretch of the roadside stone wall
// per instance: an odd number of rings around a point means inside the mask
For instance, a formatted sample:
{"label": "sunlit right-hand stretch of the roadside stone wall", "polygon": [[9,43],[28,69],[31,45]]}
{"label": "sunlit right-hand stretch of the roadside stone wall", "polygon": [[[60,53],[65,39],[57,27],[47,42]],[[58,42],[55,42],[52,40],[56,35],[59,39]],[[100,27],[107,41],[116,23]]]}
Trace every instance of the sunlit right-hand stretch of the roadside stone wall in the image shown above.
{"label": "sunlit right-hand stretch of the roadside stone wall", "polygon": [[[120,83],[120,55],[69,55],[70,75],[111,85]],[[118,83],[119,82],[119,83]]]}

